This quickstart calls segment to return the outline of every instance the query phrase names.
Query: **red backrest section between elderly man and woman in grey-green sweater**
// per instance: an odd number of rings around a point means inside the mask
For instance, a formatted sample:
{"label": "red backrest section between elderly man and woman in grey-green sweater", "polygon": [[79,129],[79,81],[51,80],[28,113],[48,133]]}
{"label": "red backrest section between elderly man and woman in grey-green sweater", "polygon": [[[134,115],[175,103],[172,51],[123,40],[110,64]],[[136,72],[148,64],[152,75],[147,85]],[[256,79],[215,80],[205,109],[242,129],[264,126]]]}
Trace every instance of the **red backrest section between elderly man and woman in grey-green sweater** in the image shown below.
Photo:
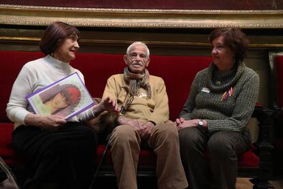
{"label": "red backrest section between elderly man and woman in grey-green sweater", "polygon": [[178,118],[198,71],[208,67],[211,57],[151,55],[148,70],[165,81],[170,120]]}

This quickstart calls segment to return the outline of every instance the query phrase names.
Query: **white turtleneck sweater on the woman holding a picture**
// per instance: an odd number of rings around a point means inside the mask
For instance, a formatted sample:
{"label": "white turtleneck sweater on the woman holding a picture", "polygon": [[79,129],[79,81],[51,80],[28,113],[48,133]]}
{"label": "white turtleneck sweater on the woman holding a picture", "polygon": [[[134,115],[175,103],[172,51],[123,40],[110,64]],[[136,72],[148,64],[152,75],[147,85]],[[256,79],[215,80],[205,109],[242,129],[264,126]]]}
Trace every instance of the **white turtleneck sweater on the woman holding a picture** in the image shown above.
{"label": "white turtleneck sweater on the woman holding a picture", "polygon": [[[27,62],[14,82],[6,108],[7,116],[15,123],[14,128],[25,125],[25,116],[33,112],[27,99],[25,99],[27,95],[75,72],[84,82],[83,74],[79,70],[73,68],[67,62],[61,62],[51,57],[51,55]],[[73,116],[68,121],[86,120],[93,116],[92,108],[90,108],[77,116]]]}

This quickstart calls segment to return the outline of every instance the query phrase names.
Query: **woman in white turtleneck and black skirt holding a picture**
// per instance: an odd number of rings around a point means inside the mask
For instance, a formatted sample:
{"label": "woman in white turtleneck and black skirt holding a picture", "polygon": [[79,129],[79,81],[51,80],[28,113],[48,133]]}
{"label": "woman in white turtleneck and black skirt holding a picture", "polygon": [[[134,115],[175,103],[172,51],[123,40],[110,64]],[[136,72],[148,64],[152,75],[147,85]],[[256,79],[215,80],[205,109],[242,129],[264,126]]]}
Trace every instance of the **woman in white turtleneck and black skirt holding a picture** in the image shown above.
{"label": "woman in white turtleneck and black skirt holding a picture", "polygon": [[63,116],[33,114],[25,97],[77,72],[70,66],[79,49],[79,30],[62,22],[49,25],[40,41],[44,58],[23,66],[12,88],[7,114],[14,124],[12,142],[26,157],[23,188],[40,188],[54,179],[57,188],[88,188],[94,171],[97,136],[83,122],[104,110],[118,111],[107,98],[98,105],[66,120]]}

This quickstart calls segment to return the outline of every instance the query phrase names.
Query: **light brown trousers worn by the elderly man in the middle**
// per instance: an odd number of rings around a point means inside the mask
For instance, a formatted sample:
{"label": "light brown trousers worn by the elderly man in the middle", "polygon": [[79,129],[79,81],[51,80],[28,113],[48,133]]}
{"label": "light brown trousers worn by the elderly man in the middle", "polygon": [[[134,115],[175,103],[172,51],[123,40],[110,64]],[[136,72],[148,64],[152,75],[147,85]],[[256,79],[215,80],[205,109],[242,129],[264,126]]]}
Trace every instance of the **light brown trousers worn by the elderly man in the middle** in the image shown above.
{"label": "light brown trousers worn by the elderly man in the middle", "polygon": [[[137,188],[137,163],[142,139],[130,125],[119,125],[110,138],[111,157],[120,189]],[[178,131],[172,121],[155,125],[146,140],[157,154],[159,188],[187,188],[180,160]]]}

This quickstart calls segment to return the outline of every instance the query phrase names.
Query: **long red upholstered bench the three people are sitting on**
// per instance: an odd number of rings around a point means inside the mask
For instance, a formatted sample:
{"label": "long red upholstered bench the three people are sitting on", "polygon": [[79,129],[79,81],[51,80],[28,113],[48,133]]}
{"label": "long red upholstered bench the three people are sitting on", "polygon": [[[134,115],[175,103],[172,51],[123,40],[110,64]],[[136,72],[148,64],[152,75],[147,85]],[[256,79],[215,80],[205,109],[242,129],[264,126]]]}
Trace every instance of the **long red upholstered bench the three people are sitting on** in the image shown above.
{"label": "long red upholstered bench the three people are sitting on", "polygon": [[[16,156],[11,146],[13,123],[9,121],[5,114],[6,104],[10,97],[12,84],[23,64],[42,56],[43,54],[39,52],[0,51],[0,155],[12,167],[21,165],[23,162]],[[73,60],[71,64],[75,68],[78,68],[85,76],[85,85],[92,97],[101,97],[107,78],[113,74],[122,73],[125,66],[122,57],[123,55],[78,53],[76,60]],[[201,56],[150,55],[150,60],[150,66],[148,68],[150,74],[162,77],[165,81],[169,97],[170,119],[174,121],[187,99],[193,78],[198,71],[208,66],[211,58]],[[262,107],[256,107],[253,116],[260,121],[260,127],[269,127],[268,110]],[[265,142],[264,144],[269,144],[268,138],[265,136],[259,138],[258,144],[262,144],[262,141]],[[260,145],[258,146],[260,147]],[[100,160],[104,147],[105,144],[101,144],[98,147],[96,162]],[[261,148],[260,153],[268,150],[268,148]],[[262,164],[260,158],[258,156],[258,148],[254,146],[241,155],[239,157],[239,176],[258,177],[260,181],[267,181],[265,175],[270,169],[269,164]],[[154,175],[154,164],[154,153],[148,149],[143,149],[139,157],[138,175]],[[262,171],[262,165],[265,168],[264,171]],[[263,177],[261,176],[262,173],[264,175]],[[106,161],[99,171],[99,176],[105,175],[114,175],[109,154],[107,154]]]}

